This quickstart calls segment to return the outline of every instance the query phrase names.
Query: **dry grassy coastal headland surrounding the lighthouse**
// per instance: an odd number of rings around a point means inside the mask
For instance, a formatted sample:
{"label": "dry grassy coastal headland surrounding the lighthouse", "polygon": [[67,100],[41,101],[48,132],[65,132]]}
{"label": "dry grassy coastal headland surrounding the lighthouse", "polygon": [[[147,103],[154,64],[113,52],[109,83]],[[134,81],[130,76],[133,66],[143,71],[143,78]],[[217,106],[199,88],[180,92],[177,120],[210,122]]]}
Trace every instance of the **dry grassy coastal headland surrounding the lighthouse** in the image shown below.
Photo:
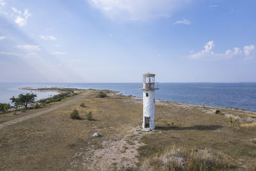
{"label": "dry grassy coastal headland surrounding the lighthouse", "polygon": [[143,101],[103,92],[0,114],[0,170],[256,169],[254,112],[156,101],[156,130],[142,132]]}

